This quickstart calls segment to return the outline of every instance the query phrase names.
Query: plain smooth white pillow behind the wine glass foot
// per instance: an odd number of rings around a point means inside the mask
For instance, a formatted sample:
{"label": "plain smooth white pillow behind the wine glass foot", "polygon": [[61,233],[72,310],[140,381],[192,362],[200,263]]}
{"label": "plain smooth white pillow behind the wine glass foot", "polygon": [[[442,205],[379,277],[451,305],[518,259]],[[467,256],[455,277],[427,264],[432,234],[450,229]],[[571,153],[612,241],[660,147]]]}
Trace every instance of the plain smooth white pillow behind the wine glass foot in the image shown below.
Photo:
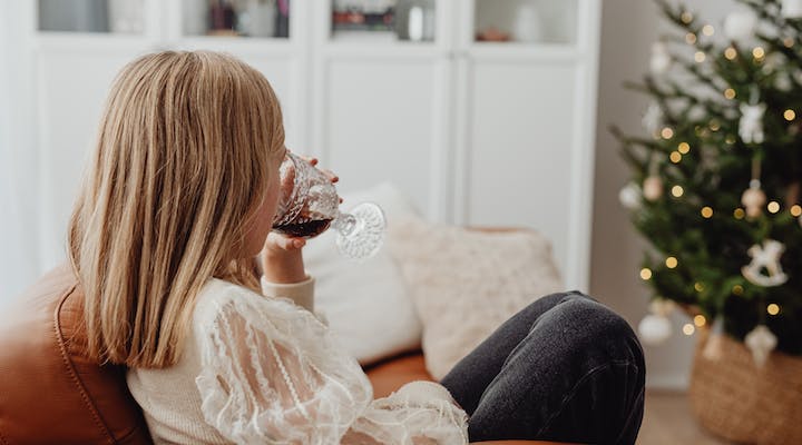
{"label": "plain smooth white pillow behind the wine glass foot", "polygon": [[[344,194],[343,199],[345,211],[364,201],[378,204],[388,226],[418,215],[410,199],[389,182]],[[304,248],[306,270],[315,277],[315,310],[323,313],[332,333],[361,365],[420,348],[421,323],[387,246],[356,264],[338,253],[334,238],[334,230],[327,230]]]}

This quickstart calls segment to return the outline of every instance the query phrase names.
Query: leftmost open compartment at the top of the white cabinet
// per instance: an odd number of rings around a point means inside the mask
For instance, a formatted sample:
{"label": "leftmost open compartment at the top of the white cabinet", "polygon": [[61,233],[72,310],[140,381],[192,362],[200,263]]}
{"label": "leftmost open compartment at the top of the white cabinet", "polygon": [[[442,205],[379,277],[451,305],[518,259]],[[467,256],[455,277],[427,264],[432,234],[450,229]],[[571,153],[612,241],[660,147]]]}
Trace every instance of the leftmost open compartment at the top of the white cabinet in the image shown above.
{"label": "leftmost open compartment at the top of the white cabinet", "polygon": [[144,0],[38,0],[42,32],[143,34]]}

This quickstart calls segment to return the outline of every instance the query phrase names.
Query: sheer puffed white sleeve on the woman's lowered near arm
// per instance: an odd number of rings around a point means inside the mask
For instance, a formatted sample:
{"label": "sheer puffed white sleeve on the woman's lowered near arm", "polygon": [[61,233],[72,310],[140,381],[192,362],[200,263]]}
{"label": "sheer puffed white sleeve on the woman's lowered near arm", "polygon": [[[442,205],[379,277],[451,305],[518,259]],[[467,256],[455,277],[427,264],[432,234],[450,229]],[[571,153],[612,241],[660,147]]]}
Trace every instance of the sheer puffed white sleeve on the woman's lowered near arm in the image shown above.
{"label": "sheer puffed white sleeve on the woman's lowered near arm", "polygon": [[207,316],[196,314],[196,385],[205,421],[229,441],[467,443],[466,415],[443,387],[417,382],[372,400],[362,368],[314,315],[290,299],[226,290]]}

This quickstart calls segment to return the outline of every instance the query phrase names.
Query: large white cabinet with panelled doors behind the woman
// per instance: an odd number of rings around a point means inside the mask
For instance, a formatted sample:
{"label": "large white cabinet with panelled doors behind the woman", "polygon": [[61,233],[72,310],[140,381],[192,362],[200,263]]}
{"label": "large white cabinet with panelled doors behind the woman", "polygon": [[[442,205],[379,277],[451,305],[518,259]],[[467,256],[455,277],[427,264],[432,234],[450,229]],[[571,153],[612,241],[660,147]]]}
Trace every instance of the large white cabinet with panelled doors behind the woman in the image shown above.
{"label": "large white cabinet with panelled doors behind the woman", "polygon": [[[275,1],[286,3],[241,3]],[[598,0],[411,1],[403,14],[419,22],[402,33],[420,41],[399,40],[395,26],[354,31],[360,26],[341,13],[348,0],[288,2],[288,36],[278,38],[205,36],[205,0],[140,0],[141,32],[41,31],[37,8],[53,3],[12,7],[32,23],[20,44],[36,81],[20,97],[36,98],[42,268],[63,257],[72,198],[115,73],[148,51],[212,49],[267,77],[287,146],[320,157],[343,191],[391,180],[433,220],[539,229],[566,285],[587,288]],[[384,3],[393,2],[375,2]],[[272,13],[253,12],[248,23],[275,20]],[[248,32],[274,34],[275,23]],[[476,41],[505,33],[514,41]]]}

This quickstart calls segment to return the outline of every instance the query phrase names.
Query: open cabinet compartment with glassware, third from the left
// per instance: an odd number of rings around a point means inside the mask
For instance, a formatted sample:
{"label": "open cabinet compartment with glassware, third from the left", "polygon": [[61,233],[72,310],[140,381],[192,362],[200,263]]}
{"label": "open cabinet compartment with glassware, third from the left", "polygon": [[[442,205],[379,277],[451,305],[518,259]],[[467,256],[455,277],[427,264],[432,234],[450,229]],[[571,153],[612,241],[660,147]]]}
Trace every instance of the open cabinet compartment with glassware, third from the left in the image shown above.
{"label": "open cabinet compartment with glassware, third from the left", "polygon": [[331,39],[346,42],[431,42],[436,0],[332,0]]}

